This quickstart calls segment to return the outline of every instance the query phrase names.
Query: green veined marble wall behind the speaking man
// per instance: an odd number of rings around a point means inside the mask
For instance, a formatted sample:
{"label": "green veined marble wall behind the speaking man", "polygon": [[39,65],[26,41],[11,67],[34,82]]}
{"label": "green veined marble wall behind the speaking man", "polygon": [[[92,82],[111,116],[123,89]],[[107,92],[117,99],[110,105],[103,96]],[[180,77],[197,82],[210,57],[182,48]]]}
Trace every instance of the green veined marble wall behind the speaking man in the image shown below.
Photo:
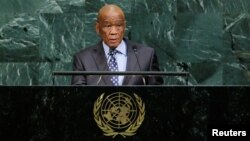
{"label": "green veined marble wall behind the speaking man", "polygon": [[155,48],[163,71],[189,71],[189,85],[250,84],[249,0],[1,0],[0,85],[51,85],[53,71],[71,70],[72,55],[99,41],[105,3],[122,7],[127,38]]}

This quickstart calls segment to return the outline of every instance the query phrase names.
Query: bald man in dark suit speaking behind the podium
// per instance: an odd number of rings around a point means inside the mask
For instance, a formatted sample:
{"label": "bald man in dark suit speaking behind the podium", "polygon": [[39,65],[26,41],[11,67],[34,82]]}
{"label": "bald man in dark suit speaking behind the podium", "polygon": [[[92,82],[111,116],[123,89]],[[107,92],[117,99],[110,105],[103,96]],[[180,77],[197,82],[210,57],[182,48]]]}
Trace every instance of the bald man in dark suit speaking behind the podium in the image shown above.
{"label": "bald man in dark suit speaking behind the podium", "polygon": [[[124,38],[125,15],[120,7],[103,6],[97,17],[96,32],[102,41],[74,55],[74,71],[159,71],[153,48]],[[72,76],[73,85],[160,85],[156,76]]]}

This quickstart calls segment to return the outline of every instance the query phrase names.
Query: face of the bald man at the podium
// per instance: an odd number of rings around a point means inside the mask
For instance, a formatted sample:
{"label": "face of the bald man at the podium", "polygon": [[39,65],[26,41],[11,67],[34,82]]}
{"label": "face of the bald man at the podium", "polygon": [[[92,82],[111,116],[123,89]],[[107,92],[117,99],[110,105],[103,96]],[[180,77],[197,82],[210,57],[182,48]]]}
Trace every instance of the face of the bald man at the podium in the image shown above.
{"label": "face of the bald man at the podium", "polygon": [[124,37],[126,21],[119,12],[106,12],[100,16],[96,23],[96,32],[101,36],[105,44],[116,48]]}

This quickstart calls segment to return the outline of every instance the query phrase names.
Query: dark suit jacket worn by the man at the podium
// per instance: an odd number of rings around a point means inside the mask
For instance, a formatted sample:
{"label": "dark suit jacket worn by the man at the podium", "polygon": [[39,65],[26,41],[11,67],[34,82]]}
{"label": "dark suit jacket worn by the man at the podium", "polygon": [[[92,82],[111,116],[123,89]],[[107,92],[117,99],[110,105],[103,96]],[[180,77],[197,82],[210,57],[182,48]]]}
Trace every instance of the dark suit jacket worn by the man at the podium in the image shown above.
{"label": "dark suit jacket worn by the man at the podium", "polygon": [[[127,45],[127,68],[126,71],[159,71],[155,50],[141,44],[133,43],[126,39]],[[134,49],[137,51],[137,58]],[[74,71],[108,71],[102,42],[97,45],[81,50],[73,58]],[[101,78],[100,81],[98,81]],[[72,85],[112,85],[111,76],[72,76]],[[161,77],[145,77],[146,85],[163,84]],[[125,76],[123,85],[144,85],[141,76]]]}

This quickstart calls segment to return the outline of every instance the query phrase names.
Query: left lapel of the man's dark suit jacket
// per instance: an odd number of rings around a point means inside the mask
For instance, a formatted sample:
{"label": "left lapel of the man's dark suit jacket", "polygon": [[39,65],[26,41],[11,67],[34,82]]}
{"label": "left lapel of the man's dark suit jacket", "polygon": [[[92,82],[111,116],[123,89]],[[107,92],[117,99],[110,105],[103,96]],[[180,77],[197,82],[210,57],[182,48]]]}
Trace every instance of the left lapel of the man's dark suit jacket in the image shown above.
{"label": "left lapel of the man's dark suit jacket", "polygon": [[[92,50],[92,56],[94,58],[94,61],[96,63],[96,67],[98,71],[108,71],[108,64],[107,64],[107,58],[105,56],[105,52],[102,46],[102,42],[99,42]],[[98,76],[99,77],[99,76]],[[112,82],[110,81],[111,76],[110,75],[104,75],[102,76],[102,80],[104,81],[105,85],[112,85]]]}

